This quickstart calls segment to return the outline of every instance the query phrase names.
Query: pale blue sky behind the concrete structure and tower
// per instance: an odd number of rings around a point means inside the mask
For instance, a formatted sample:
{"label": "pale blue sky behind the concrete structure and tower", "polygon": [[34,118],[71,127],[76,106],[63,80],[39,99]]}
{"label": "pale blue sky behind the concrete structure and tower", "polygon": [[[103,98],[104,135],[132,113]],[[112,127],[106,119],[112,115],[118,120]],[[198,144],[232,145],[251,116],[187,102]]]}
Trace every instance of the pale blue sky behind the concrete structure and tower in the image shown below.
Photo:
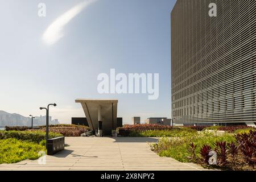
{"label": "pale blue sky behind the concrete structure and tower", "polygon": [[[54,44],[43,40],[47,28],[84,1],[0,0],[0,110],[44,115],[40,106],[56,102],[50,115],[61,123],[84,117],[76,98],[117,98],[118,116],[171,116],[171,22],[176,1],[98,0],[63,27]],[[38,4],[46,4],[46,17]],[[147,94],[99,94],[97,76],[159,73],[159,98]]]}

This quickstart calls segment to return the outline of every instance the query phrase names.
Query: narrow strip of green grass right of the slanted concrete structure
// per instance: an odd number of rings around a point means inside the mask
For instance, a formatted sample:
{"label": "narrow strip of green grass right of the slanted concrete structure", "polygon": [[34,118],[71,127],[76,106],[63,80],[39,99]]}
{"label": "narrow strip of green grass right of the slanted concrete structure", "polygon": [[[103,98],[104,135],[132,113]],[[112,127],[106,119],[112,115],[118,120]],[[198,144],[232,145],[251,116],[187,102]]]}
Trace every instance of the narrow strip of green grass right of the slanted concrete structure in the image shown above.
{"label": "narrow strip of green grass right of the slanted concrete structure", "polygon": [[196,133],[196,130],[184,127],[173,128],[171,130],[131,131],[129,137],[187,137]]}

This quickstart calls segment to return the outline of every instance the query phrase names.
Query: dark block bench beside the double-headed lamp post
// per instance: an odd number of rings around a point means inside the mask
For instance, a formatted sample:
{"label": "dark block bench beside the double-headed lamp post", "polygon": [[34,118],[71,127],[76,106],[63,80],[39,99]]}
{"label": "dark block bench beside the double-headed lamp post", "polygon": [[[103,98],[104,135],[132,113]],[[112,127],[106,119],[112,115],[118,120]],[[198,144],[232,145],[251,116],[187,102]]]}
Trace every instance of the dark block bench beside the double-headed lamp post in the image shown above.
{"label": "dark block bench beside the double-headed lamp post", "polygon": [[64,150],[65,137],[56,137],[47,140],[47,155],[53,155],[57,152]]}

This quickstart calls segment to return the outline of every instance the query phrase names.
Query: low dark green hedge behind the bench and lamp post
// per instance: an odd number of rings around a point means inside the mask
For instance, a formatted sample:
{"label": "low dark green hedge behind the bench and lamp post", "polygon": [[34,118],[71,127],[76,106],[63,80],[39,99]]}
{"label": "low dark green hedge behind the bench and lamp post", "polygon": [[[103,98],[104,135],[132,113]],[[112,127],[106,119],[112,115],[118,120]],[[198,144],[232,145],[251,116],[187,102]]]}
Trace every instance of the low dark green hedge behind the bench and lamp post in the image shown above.
{"label": "low dark green hedge behind the bench and lamp post", "polygon": [[[59,133],[49,132],[49,138],[62,137]],[[46,139],[46,133],[43,131],[0,131],[0,139],[15,138],[18,140],[27,140],[40,143]]]}

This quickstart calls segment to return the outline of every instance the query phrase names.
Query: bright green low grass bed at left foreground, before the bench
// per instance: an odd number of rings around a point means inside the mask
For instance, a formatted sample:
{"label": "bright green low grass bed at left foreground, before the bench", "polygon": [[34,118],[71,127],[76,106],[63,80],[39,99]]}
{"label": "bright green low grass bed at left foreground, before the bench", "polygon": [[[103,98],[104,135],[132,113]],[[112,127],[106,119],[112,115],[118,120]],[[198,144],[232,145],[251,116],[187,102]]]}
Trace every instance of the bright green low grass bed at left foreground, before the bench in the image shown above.
{"label": "bright green low grass bed at left foreground, before the bench", "polygon": [[17,140],[15,138],[0,140],[0,164],[17,163],[25,159],[38,159],[39,151],[46,151],[41,144]]}

